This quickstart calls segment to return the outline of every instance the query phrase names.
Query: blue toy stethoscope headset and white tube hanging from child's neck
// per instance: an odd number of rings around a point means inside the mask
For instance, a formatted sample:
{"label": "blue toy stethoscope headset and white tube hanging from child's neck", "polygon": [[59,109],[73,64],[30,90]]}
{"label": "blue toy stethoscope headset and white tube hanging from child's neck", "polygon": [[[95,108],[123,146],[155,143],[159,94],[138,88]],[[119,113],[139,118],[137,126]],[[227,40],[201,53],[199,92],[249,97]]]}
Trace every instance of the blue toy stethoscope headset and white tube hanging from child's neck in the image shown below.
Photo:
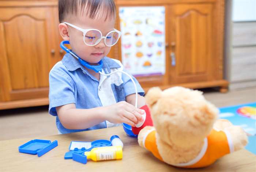
{"label": "blue toy stethoscope headset and white tube hanging from child's neck", "polygon": [[117,71],[114,71],[114,72],[109,73],[109,74],[103,74],[103,73],[101,72],[101,71],[102,71],[102,66],[103,66],[102,60],[100,60],[100,61],[98,62],[98,65],[95,65],[95,66],[94,66],[94,65],[90,65],[88,62],[84,61],[84,60],[81,59],[78,55],[76,55],[74,52],[72,52],[72,50],[69,50],[67,47],[65,47],[64,44],[69,44],[69,41],[68,41],[68,40],[63,40],[63,41],[61,41],[60,47],[61,47],[64,51],[66,51],[67,53],[70,53],[70,54],[73,55],[75,58],[77,58],[77,59],[79,60],[79,62],[80,62],[83,66],[85,66],[85,67],[87,67],[87,68],[89,68],[89,69],[91,69],[91,70],[94,70],[95,72],[100,73],[101,75],[109,76],[109,75],[112,75],[112,74],[117,73],[117,72],[121,72],[121,73],[127,75],[127,76],[132,80],[132,83],[133,83],[133,85],[134,85],[134,87],[135,87],[135,107],[137,108],[137,106],[138,106],[138,90],[137,90],[137,87],[136,87],[136,84],[135,84],[134,79],[133,79],[128,73],[126,73],[126,72],[124,72],[124,71],[121,71],[121,70],[117,70]]}

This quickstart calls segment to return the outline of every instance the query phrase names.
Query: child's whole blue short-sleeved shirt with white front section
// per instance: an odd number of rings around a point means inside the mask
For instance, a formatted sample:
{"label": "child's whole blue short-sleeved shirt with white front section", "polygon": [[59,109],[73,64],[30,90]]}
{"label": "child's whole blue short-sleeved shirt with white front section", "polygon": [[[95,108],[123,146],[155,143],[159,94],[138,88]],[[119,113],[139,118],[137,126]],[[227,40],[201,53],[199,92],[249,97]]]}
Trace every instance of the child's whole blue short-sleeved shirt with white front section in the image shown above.
{"label": "child's whole blue short-sleeved shirt with white front section", "polygon": [[[102,73],[108,74],[116,70],[123,70],[123,65],[116,59],[104,57],[102,62]],[[138,81],[134,77],[132,78],[135,80],[138,93],[144,95],[144,91]],[[56,63],[49,73],[49,113],[56,116],[57,129],[63,134],[106,128],[114,125],[104,121],[86,129],[66,129],[61,124],[55,107],[70,103],[75,103],[77,109],[108,106],[116,102],[125,101],[125,97],[133,93],[135,93],[135,88],[127,75],[122,73],[115,73],[109,77],[100,75],[98,81],[69,53],[65,54],[63,59]],[[72,116],[72,114],[69,115]]]}

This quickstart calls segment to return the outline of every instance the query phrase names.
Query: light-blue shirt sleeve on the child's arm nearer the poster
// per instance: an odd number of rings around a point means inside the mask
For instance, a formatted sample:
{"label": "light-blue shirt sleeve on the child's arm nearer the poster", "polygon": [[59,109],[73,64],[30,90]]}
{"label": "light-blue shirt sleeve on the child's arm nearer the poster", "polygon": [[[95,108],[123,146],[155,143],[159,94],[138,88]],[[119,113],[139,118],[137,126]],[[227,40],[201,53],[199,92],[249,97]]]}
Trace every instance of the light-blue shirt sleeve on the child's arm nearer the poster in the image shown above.
{"label": "light-blue shirt sleeve on the child's arm nearer the poster", "polygon": [[[128,73],[127,71],[123,70],[124,72]],[[128,73],[129,74],[129,73]],[[135,77],[133,77],[131,74],[129,74],[132,79],[135,81],[135,84],[136,84],[136,87],[137,87],[137,91],[138,91],[138,94],[144,96],[145,92],[144,90],[142,89],[142,87],[140,86],[139,82],[137,81],[137,79]],[[122,73],[122,80],[124,82],[124,91],[125,91],[125,97],[127,95],[130,95],[130,94],[134,94],[135,93],[135,88],[134,88],[134,85],[133,85],[133,82],[131,80],[131,78],[129,78],[127,75],[123,74]]]}

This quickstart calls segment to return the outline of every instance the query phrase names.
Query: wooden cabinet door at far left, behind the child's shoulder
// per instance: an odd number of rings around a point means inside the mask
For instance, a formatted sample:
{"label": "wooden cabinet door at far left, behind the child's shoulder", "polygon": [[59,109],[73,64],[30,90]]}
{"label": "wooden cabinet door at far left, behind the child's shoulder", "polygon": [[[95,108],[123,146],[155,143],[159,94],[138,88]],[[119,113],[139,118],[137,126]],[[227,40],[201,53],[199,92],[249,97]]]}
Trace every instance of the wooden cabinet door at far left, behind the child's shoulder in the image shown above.
{"label": "wooden cabinet door at far left, behind the child's shoulder", "polygon": [[54,20],[49,7],[1,8],[2,101],[48,97],[54,58]]}

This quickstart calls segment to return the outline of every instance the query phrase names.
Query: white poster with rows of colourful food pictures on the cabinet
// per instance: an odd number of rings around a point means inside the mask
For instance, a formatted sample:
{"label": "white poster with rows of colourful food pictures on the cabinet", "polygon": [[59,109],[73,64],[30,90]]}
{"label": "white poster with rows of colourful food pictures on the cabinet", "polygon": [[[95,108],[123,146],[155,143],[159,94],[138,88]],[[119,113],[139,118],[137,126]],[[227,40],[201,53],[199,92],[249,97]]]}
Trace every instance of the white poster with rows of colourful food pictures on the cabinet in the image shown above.
{"label": "white poster with rows of colourful food pictures on the cabinet", "polygon": [[135,76],[165,74],[165,7],[120,7],[122,63]]}

